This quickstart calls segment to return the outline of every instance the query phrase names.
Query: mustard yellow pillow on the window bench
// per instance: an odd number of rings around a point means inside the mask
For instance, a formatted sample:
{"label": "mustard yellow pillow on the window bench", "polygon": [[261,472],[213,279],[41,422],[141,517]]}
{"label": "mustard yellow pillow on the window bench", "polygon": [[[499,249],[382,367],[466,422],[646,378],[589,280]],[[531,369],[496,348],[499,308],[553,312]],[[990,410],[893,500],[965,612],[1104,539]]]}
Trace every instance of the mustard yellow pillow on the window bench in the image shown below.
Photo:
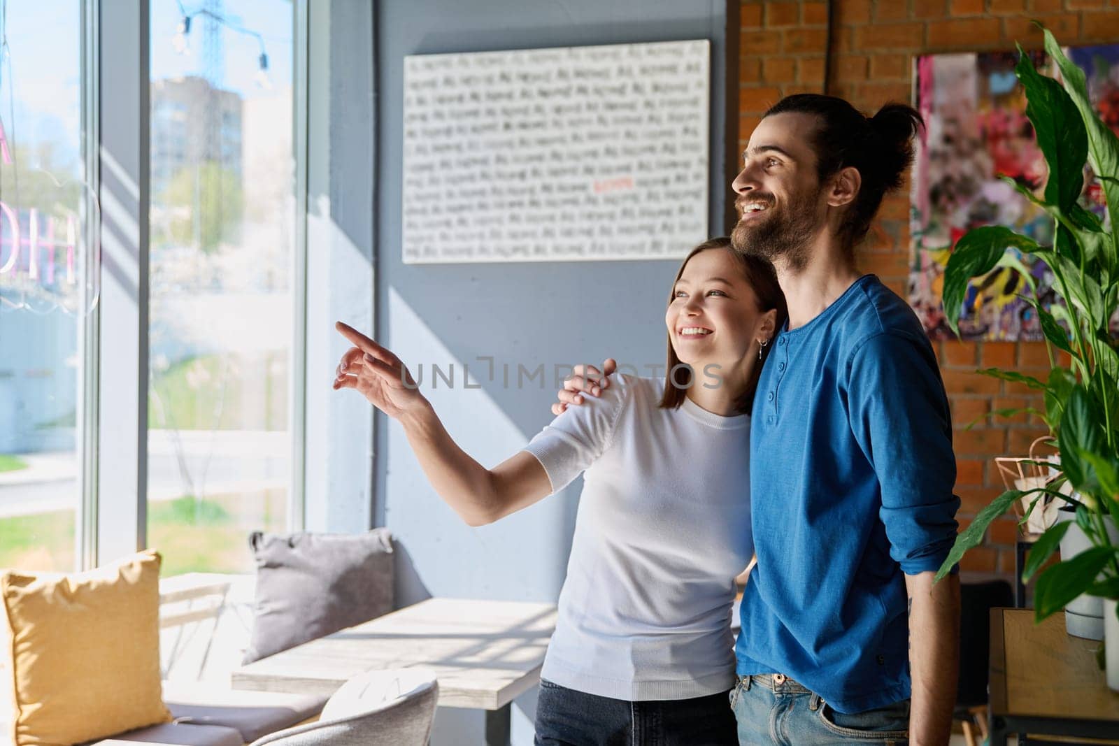
{"label": "mustard yellow pillow on the window bench", "polygon": [[[73,575],[0,575],[17,746],[69,746],[167,723],[154,550]],[[6,651],[7,652],[7,651]]]}

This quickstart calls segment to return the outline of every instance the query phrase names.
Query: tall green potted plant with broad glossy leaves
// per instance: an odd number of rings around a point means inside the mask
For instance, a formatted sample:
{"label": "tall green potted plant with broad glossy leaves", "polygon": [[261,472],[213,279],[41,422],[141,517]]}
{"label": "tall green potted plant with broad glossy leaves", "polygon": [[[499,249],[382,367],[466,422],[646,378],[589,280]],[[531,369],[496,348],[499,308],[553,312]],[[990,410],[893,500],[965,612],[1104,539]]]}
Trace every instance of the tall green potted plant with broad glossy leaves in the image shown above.
{"label": "tall green potted plant with broad glossy leaves", "polygon": [[[1038,245],[1005,226],[969,232],[956,244],[944,270],[943,303],[949,324],[959,333],[971,277],[986,275],[996,266],[1009,266],[1022,274],[1032,291],[1025,300],[1037,313],[1052,370],[1047,380],[1009,370],[981,372],[1044,393],[1044,412],[1037,414],[1049,426],[1060,459],[1045,464],[1053,479],[1044,485],[1007,490],[985,507],[957,537],[937,577],[947,575],[977,546],[990,522],[1015,501],[1027,498],[1033,507],[1051,495],[1068,502],[1074,519],[1042,535],[1029,551],[1023,576],[1037,575],[1037,621],[1081,594],[1106,599],[1109,659],[1113,659],[1109,660],[1108,684],[1119,689],[1119,544],[1112,540],[1119,526],[1119,352],[1110,332],[1110,320],[1119,309],[1119,138],[1093,111],[1083,72],[1064,55],[1053,35],[1043,30],[1045,51],[1056,63],[1062,81],[1041,75],[1021,46],[1015,72],[1026,92],[1026,115],[1049,166],[1049,179],[1041,197],[1008,181],[1052,216],[1053,245]],[[1101,221],[1078,202],[1085,161],[1102,182],[1108,220]],[[1061,302],[1043,306],[1029,272],[1012,248],[1049,266]],[[1054,348],[1068,353],[1068,367],[1055,365]],[[1073,525],[1091,546],[1044,567]]]}

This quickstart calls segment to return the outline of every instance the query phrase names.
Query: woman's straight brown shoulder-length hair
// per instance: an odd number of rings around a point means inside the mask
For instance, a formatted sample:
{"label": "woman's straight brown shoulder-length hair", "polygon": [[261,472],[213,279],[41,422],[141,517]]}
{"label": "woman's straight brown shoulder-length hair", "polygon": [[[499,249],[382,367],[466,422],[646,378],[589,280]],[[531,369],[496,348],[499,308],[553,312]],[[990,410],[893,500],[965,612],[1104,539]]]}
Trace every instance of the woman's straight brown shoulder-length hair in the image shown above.
{"label": "woman's straight brown shoulder-length hair", "polygon": [[[684,274],[684,267],[688,265],[692,257],[699,252],[706,252],[713,248],[722,248],[727,252],[733,258],[734,263],[739,265],[742,270],[743,276],[750,286],[754,291],[754,295],[758,296],[758,310],[764,313],[772,309],[777,309],[777,323],[774,324],[775,330],[780,330],[784,325],[786,317],[789,315],[789,311],[784,304],[784,293],[781,292],[781,286],[777,283],[777,272],[773,270],[773,265],[760,256],[752,256],[742,254],[741,252],[734,251],[731,246],[731,239],[726,236],[718,236],[717,238],[708,238],[704,243],[699,244],[692,249],[692,253],[685,257],[684,262],[680,263],[680,268],[676,272],[676,280],[673,281],[673,286],[668,291],[668,303],[671,305],[674,300],[674,291],[676,289],[676,282]],[[769,355],[769,346],[762,348],[762,359],[758,361],[754,366],[753,372],[750,374],[750,380],[746,381],[746,389],[739,397],[737,408],[739,412],[744,414],[750,414],[753,409],[754,403],[754,391],[758,389],[758,378],[762,375],[762,362],[764,358]],[[676,350],[673,349],[673,337],[668,336],[668,369],[665,371],[665,393],[660,397],[660,406],[665,409],[675,409],[684,403],[685,388],[679,386],[673,380],[673,371],[677,367],[686,366],[686,363],[680,362],[680,359],[676,357]],[[696,372],[692,370],[690,374],[690,385],[696,384]]]}

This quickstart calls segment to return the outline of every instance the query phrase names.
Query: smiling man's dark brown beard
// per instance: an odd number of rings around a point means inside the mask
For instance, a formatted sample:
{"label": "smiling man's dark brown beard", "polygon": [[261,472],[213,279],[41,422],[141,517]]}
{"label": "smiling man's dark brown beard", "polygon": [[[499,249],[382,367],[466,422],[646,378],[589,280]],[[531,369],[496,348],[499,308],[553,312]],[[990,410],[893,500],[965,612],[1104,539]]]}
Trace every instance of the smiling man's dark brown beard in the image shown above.
{"label": "smiling man's dark brown beard", "polygon": [[[777,263],[783,262],[789,270],[800,272],[808,266],[808,255],[812,239],[817,233],[816,201],[819,192],[806,193],[803,198],[788,206],[774,209],[772,214],[743,223],[742,208],[739,208],[740,220],[731,232],[731,245],[743,254],[751,254]],[[750,201],[759,198],[751,197]],[[739,198],[739,201],[742,198]],[[773,204],[772,198],[769,200]]]}

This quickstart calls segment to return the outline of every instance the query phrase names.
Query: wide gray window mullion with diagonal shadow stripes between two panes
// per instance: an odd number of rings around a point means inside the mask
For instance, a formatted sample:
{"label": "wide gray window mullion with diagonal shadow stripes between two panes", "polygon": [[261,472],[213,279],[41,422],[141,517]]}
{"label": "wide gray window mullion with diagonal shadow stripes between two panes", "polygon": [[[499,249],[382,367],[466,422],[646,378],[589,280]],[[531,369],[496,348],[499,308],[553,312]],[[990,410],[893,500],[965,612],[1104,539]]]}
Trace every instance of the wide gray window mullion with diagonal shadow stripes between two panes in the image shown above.
{"label": "wide gray window mullion with diagonal shadow stripes between two panes", "polygon": [[97,353],[96,558],[141,549],[148,529],[149,0],[98,3],[102,282]]}

